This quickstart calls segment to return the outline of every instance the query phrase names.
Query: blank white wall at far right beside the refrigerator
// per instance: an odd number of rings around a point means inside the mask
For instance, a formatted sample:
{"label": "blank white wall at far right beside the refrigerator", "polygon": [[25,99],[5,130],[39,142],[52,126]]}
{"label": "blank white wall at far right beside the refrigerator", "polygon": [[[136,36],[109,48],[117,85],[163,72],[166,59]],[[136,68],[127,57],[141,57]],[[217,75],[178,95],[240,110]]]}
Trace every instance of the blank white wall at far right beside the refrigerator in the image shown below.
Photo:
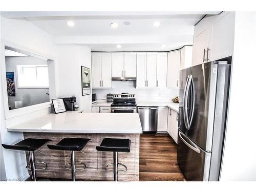
{"label": "blank white wall at far right beside the refrigerator", "polygon": [[256,12],[236,12],[221,181],[256,181]]}

